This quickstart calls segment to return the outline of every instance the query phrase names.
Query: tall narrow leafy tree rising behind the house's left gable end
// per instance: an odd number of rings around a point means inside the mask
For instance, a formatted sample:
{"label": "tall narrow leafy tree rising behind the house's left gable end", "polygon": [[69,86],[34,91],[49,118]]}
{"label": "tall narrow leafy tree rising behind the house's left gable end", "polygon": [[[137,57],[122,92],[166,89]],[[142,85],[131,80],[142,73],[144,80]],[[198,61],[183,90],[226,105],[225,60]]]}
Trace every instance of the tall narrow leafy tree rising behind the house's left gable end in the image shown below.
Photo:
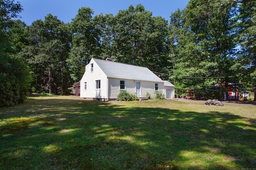
{"label": "tall narrow leafy tree rising behind the house's left gable end", "polygon": [[68,63],[74,81],[80,80],[86,64],[92,57],[98,58],[101,32],[92,20],[92,14],[93,11],[90,8],[82,7],[71,22],[73,37]]}

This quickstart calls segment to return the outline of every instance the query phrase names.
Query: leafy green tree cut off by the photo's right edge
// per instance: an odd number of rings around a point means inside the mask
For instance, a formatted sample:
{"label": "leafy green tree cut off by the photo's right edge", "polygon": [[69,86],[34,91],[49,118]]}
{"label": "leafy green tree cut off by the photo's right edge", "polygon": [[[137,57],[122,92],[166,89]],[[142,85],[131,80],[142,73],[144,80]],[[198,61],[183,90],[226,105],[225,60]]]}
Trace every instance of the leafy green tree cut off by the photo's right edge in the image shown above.
{"label": "leafy green tree cut off by the photo's right edge", "polygon": [[242,85],[254,92],[256,101],[256,2],[244,2],[239,8],[238,58],[233,66],[240,70]]}

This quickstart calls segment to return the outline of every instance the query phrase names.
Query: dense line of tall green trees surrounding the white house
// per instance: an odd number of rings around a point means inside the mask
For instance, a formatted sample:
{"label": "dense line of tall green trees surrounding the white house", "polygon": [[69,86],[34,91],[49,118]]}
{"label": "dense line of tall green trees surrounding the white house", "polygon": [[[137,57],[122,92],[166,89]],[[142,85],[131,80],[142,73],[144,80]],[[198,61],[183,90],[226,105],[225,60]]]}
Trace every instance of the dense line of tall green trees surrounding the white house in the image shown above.
{"label": "dense line of tall green trees surrounding the white house", "polygon": [[139,4],[116,16],[82,7],[71,23],[48,14],[29,26],[12,20],[20,3],[0,5],[0,106],[22,102],[28,90],[68,94],[92,57],[146,66],[181,96],[190,89],[207,98],[219,83],[222,99],[228,82],[256,92],[254,0],[190,0],[169,23]]}

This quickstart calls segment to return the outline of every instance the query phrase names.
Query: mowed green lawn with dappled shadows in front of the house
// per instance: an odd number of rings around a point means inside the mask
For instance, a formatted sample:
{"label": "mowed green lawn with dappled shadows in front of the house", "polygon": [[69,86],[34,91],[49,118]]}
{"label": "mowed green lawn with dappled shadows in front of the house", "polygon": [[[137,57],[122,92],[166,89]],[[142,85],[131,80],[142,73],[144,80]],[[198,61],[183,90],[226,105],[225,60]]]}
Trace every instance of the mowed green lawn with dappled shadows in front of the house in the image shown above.
{"label": "mowed green lawn with dappled shadows in front of the house", "polygon": [[255,169],[256,106],[30,97],[0,108],[0,169]]}

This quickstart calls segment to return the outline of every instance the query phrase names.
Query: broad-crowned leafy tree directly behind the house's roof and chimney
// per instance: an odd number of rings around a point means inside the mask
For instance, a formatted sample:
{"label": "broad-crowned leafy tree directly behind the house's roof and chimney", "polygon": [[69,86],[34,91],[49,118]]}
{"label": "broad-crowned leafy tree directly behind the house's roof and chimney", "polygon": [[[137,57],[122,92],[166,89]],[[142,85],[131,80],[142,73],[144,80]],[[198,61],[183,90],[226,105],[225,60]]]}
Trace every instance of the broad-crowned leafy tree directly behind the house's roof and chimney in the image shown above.
{"label": "broad-crowned leafy tree directly behind the house's roof and chimney", "polygon": [[117,62],[147,66],[153,71],[166,67],[167,21],[152,17],[144,6],[132,5],[120,10],[109,21],[112,59]]}

